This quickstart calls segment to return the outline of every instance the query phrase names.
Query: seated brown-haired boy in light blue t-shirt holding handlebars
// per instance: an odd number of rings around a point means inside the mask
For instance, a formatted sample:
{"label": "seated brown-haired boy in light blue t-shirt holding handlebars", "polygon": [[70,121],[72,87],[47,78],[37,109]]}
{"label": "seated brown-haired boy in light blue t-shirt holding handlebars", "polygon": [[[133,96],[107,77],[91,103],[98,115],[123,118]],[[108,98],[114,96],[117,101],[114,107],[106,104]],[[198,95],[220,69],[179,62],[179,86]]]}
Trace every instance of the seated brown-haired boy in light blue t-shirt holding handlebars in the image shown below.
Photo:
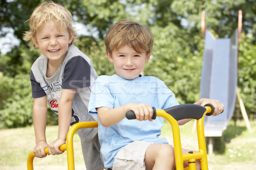
{"label": "seated brown-haired boy in light blue t-shirt holding handlebars", "polygon": [[[116,74],[96,79],[89,102],[89,113],[99,118],[105,169],[172,170],[175,168],[174,148],[166,138],[159,138],[163,118],[152,121],[151,107],[165,109],[179,103],[163,81],[140,75],[153,48],[151,31],[133,21],[122,20],[110,28],[105,45]],[[215,107],[214,116],[224,109],[218,100],[195,102],[207,103]],[[125,113],[129,110],[134,111],[140,121],[126,119]],[[180,120],[179,124],[190,120]],[[183,152],[188,151],[183,149]]]}

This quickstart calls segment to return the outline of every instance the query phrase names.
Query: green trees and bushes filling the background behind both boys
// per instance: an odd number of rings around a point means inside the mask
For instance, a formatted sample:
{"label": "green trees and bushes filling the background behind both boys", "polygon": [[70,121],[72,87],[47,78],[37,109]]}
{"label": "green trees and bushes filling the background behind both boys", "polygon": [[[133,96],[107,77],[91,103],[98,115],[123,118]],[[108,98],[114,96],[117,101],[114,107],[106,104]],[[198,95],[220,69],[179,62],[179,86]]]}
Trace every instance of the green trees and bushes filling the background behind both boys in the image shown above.
{"label": "green trees and bushes filling the background behind both boys", "polygon": [[[29,29],[29,23],[24,22],[41,2],[44,0],[0,1],[0,36],[6,35],[2,28],[12,28],[21,42],[11,52],[0,54],[0,72],[3,73],[0,77],[0,128],[32,123],[29,74],[32,63],[41,54],[28,47],[22,34]],[[73,14],[74,21],[86,26],[89,36],[79,37],[76,46],[90,57],[98,75],[115,73],[104,44],[104,37],[113,23],[128,18],[148,26],[154,34],[154,50],[145,65],[144,75],[166,82],[180,104],[199,99],[204,50],[201,12],[206,12],[207,28],[223,38],[230,37],[237,28],[241,9],[244,35],[240,44],[238,85],[247,113],[255,115],[255,0],[64,0],[62,4]],[[52,111],[47,119],[48,123],[58,123],[58,116]]]}

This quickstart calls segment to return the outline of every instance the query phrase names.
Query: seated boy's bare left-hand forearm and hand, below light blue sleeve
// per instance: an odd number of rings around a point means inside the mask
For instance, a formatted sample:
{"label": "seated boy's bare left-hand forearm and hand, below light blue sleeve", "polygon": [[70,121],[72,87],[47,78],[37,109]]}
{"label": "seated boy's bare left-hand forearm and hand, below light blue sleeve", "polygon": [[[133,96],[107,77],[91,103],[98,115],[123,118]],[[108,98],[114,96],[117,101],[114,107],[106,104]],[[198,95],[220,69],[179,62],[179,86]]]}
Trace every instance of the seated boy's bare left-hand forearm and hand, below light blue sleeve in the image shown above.
{"label": "seated boy's bare left-hand forearm and hand, below light blue sleeve", "polygon": [[108,107],[97,108],[99,121],[105,127],[116,125],[125,118],[127,111],[134,111],[137,120],[152,121],[153,109],[147,104],[129,103],[119,108]]}

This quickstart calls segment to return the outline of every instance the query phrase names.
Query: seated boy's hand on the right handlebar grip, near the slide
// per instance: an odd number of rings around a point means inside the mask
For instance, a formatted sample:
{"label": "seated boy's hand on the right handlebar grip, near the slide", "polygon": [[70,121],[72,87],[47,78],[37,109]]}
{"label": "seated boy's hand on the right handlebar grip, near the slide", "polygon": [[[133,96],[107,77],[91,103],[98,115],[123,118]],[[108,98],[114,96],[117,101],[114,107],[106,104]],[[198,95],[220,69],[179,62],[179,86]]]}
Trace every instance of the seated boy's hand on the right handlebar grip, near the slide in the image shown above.
{"label": "seated boy's hand on the right handlebar grip, near the slide", "polygon": [[222,113],[222,111],[224,110],[224,105],[219,101],[219,100],[215,100],[215,99],[200,99],[197,102],[195,102],[195,104],[204,106],[207,103],[212,104],[214,107],[214,112],[212,114],[212,116],[217,116],[220,113]]}

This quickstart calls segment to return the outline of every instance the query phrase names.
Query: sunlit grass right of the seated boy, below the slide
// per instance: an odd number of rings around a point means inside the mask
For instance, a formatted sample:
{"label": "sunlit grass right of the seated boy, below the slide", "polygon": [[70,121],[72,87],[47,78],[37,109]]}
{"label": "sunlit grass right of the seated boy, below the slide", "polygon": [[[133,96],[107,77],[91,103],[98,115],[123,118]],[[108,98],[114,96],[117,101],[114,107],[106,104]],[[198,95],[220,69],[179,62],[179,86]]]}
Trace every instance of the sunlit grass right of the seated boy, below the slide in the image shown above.
{"label": "sunlit grass right of the seated boy, below the slide", "polygon": [[[185,149],[198,150],[194,122],[180,126],[181,145]],[[207,155],[209,170],[254,170],[256,164],[256,120],[250,122],[251,133],[244,121],[230,121],[222,137],[215,137],[214,153]],[[168,136],[170,144],[172,129],[165,123],[162,135]]]}

